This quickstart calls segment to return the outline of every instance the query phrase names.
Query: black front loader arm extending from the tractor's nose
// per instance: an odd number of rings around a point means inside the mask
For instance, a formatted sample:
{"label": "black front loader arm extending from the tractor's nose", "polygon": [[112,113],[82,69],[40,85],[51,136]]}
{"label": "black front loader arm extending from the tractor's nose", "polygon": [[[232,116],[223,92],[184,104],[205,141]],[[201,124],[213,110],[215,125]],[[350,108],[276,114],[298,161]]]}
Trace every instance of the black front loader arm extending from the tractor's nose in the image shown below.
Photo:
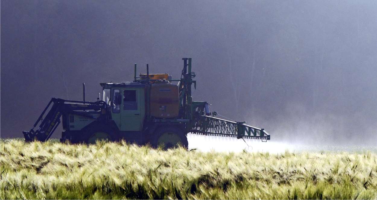
{"label": "black front loader arm extending from the tractor's nose", "polygon": [[[22,131],[25,136],[25,141],[47,141],[55,129],[60,124],[60,116],[63,113],[75,113],[77,115],[83,115],[85,117],[96,118],[91,115],[86,115],[83,112],[77,112],[82,110],[95,110],[100,111],[101,109],[106,109],[106,103],[103,101],[98,102],[80,102],[80,101],[70,101],[61,98],[51,98],[50,102],[44,108],[41,115],[38,117],[37,121],[30,131]],[[48,113],[43,118],[45,112],[50,108]],[[34,131],[34,128],[40,123],[39,128]]]}

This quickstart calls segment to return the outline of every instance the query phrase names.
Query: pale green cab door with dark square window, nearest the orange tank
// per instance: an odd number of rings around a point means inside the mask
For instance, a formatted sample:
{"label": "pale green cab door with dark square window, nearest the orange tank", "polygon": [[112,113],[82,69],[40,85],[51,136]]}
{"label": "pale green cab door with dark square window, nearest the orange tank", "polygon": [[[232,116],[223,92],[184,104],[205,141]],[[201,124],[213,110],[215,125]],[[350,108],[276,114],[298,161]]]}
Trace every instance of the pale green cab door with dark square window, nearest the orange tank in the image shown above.
{"label": "pale green cab door with dark square window, nearest the orange tank", "polygon": [[140,131],[141,119],[141,89],[122,89],[121,131]]}

